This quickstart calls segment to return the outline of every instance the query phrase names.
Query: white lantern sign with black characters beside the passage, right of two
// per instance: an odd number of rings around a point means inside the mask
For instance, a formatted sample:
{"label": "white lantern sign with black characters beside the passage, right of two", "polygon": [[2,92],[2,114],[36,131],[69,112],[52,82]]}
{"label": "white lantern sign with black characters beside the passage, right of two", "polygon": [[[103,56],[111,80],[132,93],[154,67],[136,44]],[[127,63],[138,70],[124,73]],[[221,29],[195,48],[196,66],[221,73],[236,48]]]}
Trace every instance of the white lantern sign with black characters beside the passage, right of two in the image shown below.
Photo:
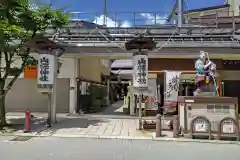
{"label": "white lantern sign with black characters beside the passage, right of two", "polygon": [[148,56],[133,56],[133,87],[148,87]]}

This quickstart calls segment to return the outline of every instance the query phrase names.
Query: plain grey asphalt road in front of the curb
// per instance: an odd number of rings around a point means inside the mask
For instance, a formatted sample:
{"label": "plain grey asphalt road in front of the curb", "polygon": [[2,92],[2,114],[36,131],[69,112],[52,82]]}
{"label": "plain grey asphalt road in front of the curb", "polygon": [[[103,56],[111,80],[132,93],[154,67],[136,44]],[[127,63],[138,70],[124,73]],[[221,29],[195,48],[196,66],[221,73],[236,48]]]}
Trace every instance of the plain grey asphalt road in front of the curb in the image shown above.
{"label": "plain grey asphalt road in front of the curb", "polygon": [[152,140],[0,137],[0,160],[239,160],[240,145]]}

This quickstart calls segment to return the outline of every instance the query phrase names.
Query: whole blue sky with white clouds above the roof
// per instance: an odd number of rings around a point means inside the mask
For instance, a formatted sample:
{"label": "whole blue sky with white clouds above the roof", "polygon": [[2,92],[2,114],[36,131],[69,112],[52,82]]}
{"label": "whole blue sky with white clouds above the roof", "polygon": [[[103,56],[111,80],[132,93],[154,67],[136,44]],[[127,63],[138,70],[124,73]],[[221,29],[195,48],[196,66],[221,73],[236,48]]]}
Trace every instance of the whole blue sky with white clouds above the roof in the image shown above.
{"label": "whole blue sky with white clouds above the roof", "polygon": [[[66,7],[70,12],[82,12],[75,14],[74,18],[100,24],[103,22],[103,16],[101,16],[103,13],[103,0],[42,1],[52,1],[54,8]],[[107,24],[111,26],[129,26],[133,25],[133,23],[136,25],[152,24],[155,21],[163,23],[174,2],[175,0],[107,0]],[[224,0],[185,0],[187,10],[221,4],[224,4]],[[133,12],[136,12],[135,18]],[[155,15],[157,20],[155,20]]]}

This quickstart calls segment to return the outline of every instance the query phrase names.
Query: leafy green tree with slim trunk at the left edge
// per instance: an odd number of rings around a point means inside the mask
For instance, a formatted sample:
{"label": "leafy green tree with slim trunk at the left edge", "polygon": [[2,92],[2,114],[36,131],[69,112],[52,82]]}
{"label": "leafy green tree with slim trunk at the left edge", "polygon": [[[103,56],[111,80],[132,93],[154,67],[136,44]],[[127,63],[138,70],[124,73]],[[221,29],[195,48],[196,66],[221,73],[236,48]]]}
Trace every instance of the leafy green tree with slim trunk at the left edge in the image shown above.
{"label": "leafy green tree with slim trunk at the left edge", "polygon": [[[25,42],[43,36],[51,26],[55,31],[66,25],[69,14],[51,5],[38,7],[28,0],[0,1],[0,126],[6,125],[5,97],[24,66],[37,61],[30,55]],[[12,66],[14,57],[22,58],[21,67]],[[9,83],[8,76],[14,76]]]}

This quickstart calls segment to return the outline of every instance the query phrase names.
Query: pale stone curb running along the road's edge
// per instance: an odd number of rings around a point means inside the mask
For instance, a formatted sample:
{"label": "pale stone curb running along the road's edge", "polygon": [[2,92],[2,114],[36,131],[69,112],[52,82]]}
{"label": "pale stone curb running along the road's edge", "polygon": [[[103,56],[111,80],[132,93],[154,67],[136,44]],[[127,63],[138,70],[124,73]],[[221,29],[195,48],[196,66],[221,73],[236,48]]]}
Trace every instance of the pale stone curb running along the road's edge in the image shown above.
{"label": "pale stone curb running along the road's edge", "polygon": [[220,140],[201,140],[201,139],[183,139],[183,138],[164,138],[164,137],[129,137],[129,136],[97,136],[97,135],[38,135],[37,133],[2,133],[0,136],[31,136],[31,137],[59,137],[59,138],[94,138],[94,139],[122,139],[122,140],[152,140],[162,142],[192,142],[192,143],[210,143],[210,144],[237,144],[237,141],[220,141]]}

